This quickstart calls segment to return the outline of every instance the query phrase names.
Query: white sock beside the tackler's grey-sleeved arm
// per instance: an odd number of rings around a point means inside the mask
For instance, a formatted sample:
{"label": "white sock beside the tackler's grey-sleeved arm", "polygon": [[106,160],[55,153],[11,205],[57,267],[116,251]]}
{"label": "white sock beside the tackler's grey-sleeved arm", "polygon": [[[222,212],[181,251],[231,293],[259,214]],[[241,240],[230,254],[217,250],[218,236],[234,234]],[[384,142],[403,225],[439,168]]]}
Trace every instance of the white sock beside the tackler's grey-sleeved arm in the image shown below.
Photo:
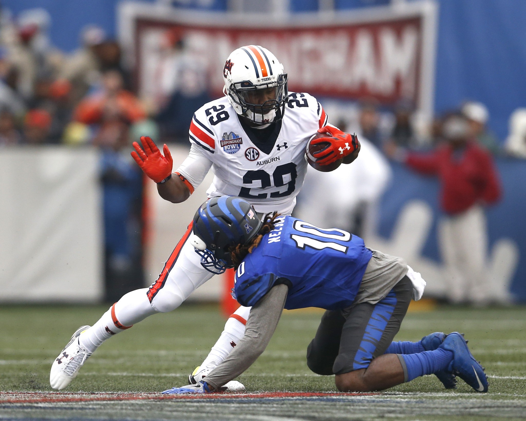
{"label": "white sock beside the tackler's grey-sleeved arm", "polygon": [[[248,309],[248,311],[244,309]],[[245,324],[247,322],[246,319],[248,319],[250,308],[244,307],[239,311],[239,313],[243,314],[245,317],[238,314],[238,310],[228,318],[225,323],[225,330],[222,331],[221,336],[219,336],[219,339],[210,350],[205,361],[201,363],[201,370],[217,366],[228,356],[228,354],[230,354],[230,352],[232,352],[232,350],[234,350],[235,346],[245,335]],[[239,319],[243,320],[245,323],[242,323]]]}

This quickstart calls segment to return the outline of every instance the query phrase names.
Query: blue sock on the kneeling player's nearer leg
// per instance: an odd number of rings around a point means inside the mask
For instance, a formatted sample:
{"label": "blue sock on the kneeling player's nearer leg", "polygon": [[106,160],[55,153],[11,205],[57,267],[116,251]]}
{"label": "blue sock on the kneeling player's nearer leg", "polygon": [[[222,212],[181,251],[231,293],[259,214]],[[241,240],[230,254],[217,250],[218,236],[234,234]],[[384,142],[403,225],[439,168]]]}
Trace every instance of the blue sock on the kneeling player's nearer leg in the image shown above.
{"label": "blue sock on the kneeling player's nearer leg", "polygon": [[439,348],[417,354],[398,354],[398,358],[402,363],[404,381],[410,382],[413,378],[446,369],[453,360],[453,353]]}

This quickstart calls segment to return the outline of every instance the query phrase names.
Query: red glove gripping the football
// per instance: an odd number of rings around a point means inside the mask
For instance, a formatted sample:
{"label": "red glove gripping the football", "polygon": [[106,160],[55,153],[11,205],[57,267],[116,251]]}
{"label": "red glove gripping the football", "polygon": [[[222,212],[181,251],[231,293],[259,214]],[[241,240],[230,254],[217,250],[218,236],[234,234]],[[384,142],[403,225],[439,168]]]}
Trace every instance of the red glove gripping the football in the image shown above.
{"label": "red glove gripping the football", "polygon": [[332,138],[319,138],[310,142],[311,145],[318,143],[330,143],[330,146],[323,148],[319,152],[312,154],[316,158],[316,163],[329,165],[341,158],[345,158],[358,148],[358,137],[356,134],[342,132],[340,129],[326,125],[318,130],[318,133],[330,133]]}

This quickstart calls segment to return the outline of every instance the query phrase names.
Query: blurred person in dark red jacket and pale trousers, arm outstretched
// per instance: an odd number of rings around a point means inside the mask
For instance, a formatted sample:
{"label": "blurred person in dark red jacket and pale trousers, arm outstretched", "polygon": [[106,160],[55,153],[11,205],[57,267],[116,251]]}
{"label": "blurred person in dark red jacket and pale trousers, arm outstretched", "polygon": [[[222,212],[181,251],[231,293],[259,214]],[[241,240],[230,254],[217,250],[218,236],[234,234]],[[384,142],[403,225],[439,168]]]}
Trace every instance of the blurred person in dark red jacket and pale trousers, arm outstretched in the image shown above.
{"label": "blurred person in dark red jacket and pale trousers, arm outstretched", "polygon": [[424,175],[440,179],[439,245],[449,298],[452,302],[485,304],[491,300],[487,261],[487,224],[484,205],[497,202],[500,183],[491,155],[470,137],[463,114],[443,123],[447,142],[429,154],[406,152],[388,145],[386,153]]}

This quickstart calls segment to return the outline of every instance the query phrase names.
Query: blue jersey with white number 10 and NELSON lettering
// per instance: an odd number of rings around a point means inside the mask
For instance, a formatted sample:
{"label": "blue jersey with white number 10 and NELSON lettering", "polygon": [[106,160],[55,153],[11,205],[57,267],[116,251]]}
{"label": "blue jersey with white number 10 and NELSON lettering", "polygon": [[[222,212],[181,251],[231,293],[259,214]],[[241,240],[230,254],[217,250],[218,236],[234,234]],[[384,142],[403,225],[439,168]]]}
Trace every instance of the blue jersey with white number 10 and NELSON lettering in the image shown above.
{"label": "blue jersey with white number 10 and NELSON lettering", "polygon": [[234,286],[237,301],[254,306],[276,283],[286,283],[286,309],[350,306],[372,256],[363,240],[291,216],[277,218],[275,225],[239,265]]}

